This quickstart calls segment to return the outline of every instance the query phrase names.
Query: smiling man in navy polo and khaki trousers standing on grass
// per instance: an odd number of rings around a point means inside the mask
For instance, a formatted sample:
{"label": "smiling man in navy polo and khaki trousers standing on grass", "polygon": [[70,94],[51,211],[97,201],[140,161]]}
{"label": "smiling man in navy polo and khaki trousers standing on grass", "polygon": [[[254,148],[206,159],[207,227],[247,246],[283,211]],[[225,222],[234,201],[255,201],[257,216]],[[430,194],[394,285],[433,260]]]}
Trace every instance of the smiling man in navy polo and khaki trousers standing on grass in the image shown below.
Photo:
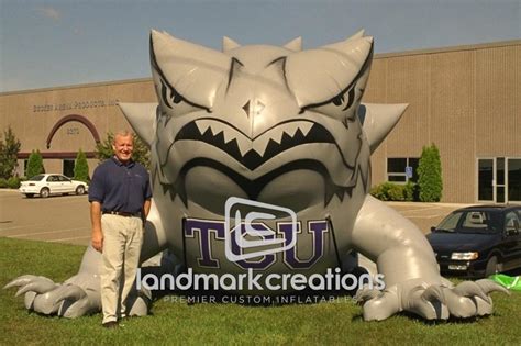
{"label": "smiling man in navy polo and khaki trousers standing on grass", "polygon": [[117,133],[112,149],[114,156],[96,168],[89,187],[92,247],[102,253],[100,280],[104,327],[117,327],[119,313],[120,316],[125,314],[152,198],[148,172],[132,160],[132,134]]}

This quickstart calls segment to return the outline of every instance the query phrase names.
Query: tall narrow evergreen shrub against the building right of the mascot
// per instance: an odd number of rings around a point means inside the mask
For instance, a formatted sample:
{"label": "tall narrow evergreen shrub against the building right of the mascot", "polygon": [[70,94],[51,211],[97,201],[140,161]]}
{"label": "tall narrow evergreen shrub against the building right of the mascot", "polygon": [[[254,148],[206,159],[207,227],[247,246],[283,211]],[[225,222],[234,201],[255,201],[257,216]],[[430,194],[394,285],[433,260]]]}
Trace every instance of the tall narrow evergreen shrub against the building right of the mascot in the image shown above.
{"label": "tall narrow evergreen shrub against the building right of the mascot", "polygon": [[418,186],[420,201],[439,202],[442,199],[442,163],[440,150],[434,144],[422,149],[418,165]]}

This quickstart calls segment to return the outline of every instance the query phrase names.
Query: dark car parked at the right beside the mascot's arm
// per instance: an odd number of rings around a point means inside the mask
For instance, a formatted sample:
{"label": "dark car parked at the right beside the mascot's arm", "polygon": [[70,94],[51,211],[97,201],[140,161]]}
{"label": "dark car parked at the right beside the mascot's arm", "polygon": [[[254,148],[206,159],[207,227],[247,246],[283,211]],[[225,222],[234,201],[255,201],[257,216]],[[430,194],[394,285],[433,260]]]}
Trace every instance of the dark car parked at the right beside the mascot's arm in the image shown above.
{"label": "dark car parked at the right beside the mascot's arm", "polygon": [[483,278],[521,268],[521,205],[475,205],[453,211],[428,234],[440,271]]}

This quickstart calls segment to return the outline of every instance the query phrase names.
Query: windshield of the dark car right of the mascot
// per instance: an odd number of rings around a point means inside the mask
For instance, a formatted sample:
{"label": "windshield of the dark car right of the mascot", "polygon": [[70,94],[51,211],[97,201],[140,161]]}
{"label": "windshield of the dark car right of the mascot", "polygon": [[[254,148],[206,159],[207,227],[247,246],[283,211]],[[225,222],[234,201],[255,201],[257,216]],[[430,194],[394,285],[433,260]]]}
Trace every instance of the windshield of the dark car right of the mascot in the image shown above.
{"label": "windshield of the dark car right of the mascot", "polygon": [[501,230],[501,213],[485,210],[455,211],[436,227],[437,232],[498,233]]}

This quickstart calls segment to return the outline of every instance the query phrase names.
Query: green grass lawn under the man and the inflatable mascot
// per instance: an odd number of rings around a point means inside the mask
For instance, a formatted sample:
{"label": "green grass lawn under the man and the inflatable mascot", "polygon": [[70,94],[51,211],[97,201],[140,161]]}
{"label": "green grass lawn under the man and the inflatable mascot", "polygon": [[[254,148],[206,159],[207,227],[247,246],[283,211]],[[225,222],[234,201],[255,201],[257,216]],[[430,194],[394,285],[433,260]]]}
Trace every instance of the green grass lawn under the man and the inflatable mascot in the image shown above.
{"label": "green grass lawn under the man and the inflatable mascot", "polygon": [[[62,282],[77,271],[84,247],[0,238],[0,286],[34,274]],[[101,315],[67,320],[29,313],[14,289],[0,290],[0,345],[13,344],[512,344],[521,337],[521,293],[494,293],[495,313],[428,323],[396,315],[364,322],[350,299],[269,308],[195,304],[166,299],[153,315],[104,330]]]}

